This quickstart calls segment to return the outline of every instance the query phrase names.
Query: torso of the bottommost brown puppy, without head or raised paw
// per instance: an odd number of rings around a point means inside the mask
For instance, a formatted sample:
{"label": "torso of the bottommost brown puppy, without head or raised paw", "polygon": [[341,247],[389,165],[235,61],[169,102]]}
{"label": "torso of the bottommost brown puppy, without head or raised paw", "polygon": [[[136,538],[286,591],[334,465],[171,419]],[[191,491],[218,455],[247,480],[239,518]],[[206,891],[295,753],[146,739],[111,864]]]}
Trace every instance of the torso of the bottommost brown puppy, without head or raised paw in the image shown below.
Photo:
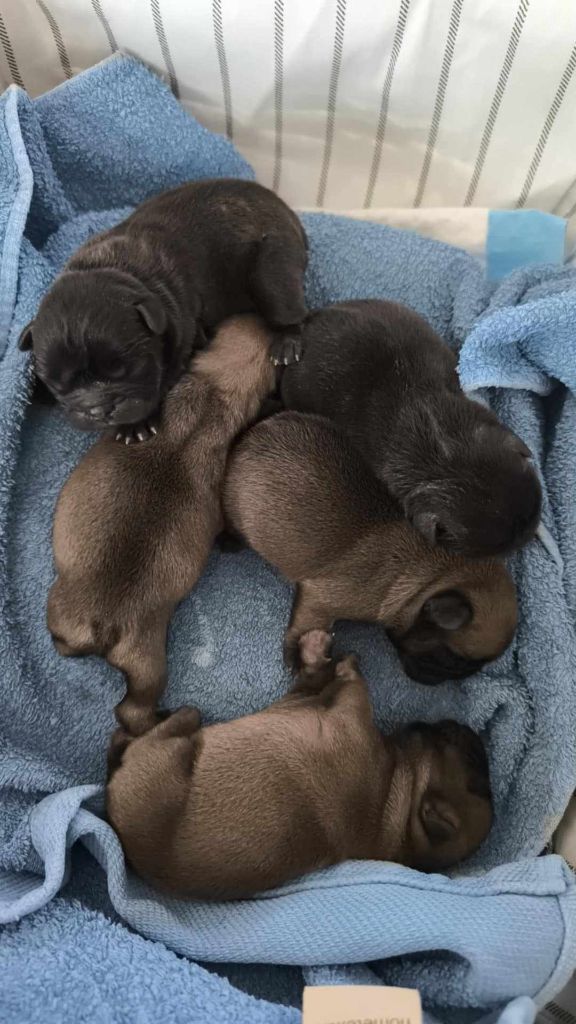
{"label": "torso of the bottommost brown puppy, without head or raised paw", "polygon": [[353,708],[287,697],[192,736],[161,732],[130,743],[107,813],[136,871],[162,889],[251,895],[373,842],[367,809],[379,806],[384,755]]}

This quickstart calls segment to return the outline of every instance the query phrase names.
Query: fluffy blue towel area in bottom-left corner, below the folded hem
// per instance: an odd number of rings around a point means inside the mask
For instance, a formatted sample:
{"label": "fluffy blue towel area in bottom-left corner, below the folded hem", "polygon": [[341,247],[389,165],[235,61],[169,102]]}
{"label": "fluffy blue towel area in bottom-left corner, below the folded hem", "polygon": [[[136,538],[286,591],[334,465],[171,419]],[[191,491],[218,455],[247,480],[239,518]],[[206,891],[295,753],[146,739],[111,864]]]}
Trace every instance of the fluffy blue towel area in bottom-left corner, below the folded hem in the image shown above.
{"label": "fluffy blue towel area in bottom-left corner, below the folded hem", "polygon": [[[300,1022],[296,1007],[239,992],[101,913],[63,899],[49,909],[8,927],[2,936],[2,1024]],[[369,973],[358,980],[373,982]],[[324,983],[337,984],[337,979],[327,977]],[[534,1012],[532,1000],[521,996],[498,1017],[498,1024],[532,1024]],[[426,1016],[425,1024],[434,1024],[433,1018]]]}

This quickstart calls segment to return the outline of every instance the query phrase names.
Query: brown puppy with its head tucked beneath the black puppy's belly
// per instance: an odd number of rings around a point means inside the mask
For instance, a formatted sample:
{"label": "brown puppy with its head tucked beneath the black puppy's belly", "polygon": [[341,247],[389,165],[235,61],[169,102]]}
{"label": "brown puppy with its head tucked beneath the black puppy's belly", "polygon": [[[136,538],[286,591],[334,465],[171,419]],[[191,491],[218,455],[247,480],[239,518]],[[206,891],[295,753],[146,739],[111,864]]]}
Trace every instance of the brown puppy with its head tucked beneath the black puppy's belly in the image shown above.
{"label": "brown puppy with its head tucked beneath the black puppy's belly", "polygon": [[58,498],[48,629],[61,654],[125,673],[117,715],[135,734],[157,720],[170,616],[221,529],[230,444],[275,385],[270,337],[253,315],[223,324],[168,395],[155,443],[99,440]]}

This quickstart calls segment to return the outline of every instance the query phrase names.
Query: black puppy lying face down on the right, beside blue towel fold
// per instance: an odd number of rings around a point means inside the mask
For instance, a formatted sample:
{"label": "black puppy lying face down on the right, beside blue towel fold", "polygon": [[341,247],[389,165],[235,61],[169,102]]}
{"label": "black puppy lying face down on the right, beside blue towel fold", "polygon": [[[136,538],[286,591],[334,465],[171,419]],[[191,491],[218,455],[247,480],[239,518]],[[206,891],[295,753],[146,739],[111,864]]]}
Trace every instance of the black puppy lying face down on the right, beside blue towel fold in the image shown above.
{"label": "black puppy lying face down on the right, beside blue towel fold", "polygon": [[485,557],[534,537],[529,449],[466,398],[425,321],[394,302],[344,302],[312,315],[304,345],[283,375],[284,404],[342,427],[429,544]]}

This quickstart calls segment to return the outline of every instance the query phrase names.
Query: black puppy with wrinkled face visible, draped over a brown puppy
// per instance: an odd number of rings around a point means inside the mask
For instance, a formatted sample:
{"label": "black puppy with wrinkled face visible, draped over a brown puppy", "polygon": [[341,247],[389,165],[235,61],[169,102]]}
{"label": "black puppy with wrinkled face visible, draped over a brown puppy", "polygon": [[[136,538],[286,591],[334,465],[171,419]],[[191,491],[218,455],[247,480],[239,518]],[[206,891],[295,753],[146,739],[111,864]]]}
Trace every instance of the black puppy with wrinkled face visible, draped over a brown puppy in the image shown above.
{"label": "black puppy with wrinkled face visible, draped over a brown puppy", "polygon": [[253,181],[163,193],[69,260],[20,336],[72,422],[143,440],[147,421],[225,317],[257,310],[273,360],[299,358],[307,245],[296,215]]}

